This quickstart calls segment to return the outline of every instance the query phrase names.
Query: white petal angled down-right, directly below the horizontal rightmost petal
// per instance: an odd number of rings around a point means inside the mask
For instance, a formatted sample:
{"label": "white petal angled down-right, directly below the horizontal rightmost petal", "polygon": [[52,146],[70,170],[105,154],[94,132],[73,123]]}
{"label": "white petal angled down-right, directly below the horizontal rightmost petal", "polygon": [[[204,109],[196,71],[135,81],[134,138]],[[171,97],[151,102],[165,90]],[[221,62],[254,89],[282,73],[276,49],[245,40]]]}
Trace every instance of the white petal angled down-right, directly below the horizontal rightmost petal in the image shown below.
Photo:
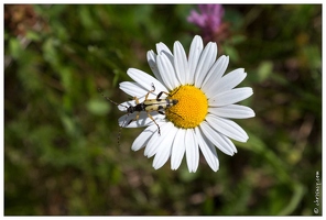
{"label": "white petal angled down-right, directly below the horizontal rightmost petal", "polygon": [[247,142],[249,136],[247,135],[246,131],[239,127],[236,122],[224,119],[219,117],[215,117],[213,114],[207,114],[206,121],[210,127],[213,127],[216,131],[229,136],[239,142]]}

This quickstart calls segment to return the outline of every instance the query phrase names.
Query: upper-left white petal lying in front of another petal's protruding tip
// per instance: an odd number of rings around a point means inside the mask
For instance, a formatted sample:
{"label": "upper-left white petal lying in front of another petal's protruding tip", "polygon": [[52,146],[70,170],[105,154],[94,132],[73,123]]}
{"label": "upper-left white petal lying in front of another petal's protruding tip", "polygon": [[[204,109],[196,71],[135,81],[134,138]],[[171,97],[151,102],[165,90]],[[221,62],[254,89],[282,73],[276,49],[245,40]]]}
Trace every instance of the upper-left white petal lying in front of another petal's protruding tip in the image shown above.
{"label": "upper-left white petal lying in front of another petal's protruding tip", "polygon": [[174,88],[180,86],[180,82],[177,81],[177,78],[175,76],[174,67],[166,55],[157,55],[157,67],[160,69],[162,79],[169,90],[173,90]]}

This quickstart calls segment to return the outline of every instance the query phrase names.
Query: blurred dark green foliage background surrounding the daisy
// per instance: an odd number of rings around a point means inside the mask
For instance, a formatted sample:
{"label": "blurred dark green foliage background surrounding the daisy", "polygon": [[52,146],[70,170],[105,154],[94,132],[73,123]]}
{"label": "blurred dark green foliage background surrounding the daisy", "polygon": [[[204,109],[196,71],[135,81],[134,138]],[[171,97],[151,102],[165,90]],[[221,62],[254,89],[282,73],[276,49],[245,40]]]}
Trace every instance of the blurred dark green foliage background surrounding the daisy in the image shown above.
{"label": "blurred dark green foliage background surrounding the daisy", "polygon": [[142,129],[118,146],[122,112],[97,88],[122,102],[155,43],[188,52],[196,6],[4,6],[4,215],[316,215],[322,6],[224,8],[219,55],[248,73],[257,116],[236,120],[249,141],[217,173],[202,156],[189,174],[131,151]]}

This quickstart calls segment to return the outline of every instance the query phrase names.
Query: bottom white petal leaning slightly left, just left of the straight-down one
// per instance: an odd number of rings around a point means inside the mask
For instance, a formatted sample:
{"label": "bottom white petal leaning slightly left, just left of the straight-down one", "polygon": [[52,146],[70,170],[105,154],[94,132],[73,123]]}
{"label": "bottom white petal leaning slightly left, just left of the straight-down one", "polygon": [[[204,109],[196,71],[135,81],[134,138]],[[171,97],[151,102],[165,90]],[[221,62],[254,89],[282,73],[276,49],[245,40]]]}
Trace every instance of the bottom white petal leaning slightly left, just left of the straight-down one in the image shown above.
{"label": "bottom white petal leaning slightly left, just left of the straight-down one", "polygon": [[182,158],[186,150],[185,133],[186,130],[178,129],[175,134],[171,153],[171,169],[177,169],[181,165]]}

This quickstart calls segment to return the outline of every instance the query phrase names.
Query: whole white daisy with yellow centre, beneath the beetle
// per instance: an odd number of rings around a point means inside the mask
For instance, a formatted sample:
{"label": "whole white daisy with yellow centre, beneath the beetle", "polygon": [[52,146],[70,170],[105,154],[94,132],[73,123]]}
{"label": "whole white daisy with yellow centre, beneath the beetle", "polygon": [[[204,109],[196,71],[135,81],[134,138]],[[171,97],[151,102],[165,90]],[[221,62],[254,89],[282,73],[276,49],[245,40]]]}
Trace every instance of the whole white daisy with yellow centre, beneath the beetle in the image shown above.
{"label": "whole white daisy with yellow centre, beneath the beetle", "polygon": [[[161,91],[169,94],[164,94],[165,97],[161,99],[175,99],[177,103],[165,109],[165,114],[141,111],[122,116],[119,119],[121,127],[146,127],[131,148],[138,151],[145,147],[144,155],[154,156],[155,169],[162,167],[170,157],[171,168],[177,169],[185,155],[191,173],[197,170],[200,150],[211,169],[218,170],[216,147],[233,155],[237,148],[230,139],[239,142],[248,140],[243,129],[230,119],[254,117],[252,109],[236,105],[253,94],[249,87],[235,88],[246,78],[244,69],[238,68],[224,76],[229,57],[220,56],[216,61],[216,43],[209,42],[204,48],[198,35],[192,42],[188,57],[178,41],[173,45],[173,53],[163,43],[156,44],[156,52],[148,52],[148,62],[155,78],[142,70],[129,68],[127,74],[134,81],[121,82],[120,89],[137,97],[139,103],[145,100],[146,94],[148,99],[156,99]],[[155,90],[149,92],[153,86]],[[126,111],[126,107],[135,105],[135,100],[132,100],[118,108]],[[126,123],[129,121],[131,123]]]}

